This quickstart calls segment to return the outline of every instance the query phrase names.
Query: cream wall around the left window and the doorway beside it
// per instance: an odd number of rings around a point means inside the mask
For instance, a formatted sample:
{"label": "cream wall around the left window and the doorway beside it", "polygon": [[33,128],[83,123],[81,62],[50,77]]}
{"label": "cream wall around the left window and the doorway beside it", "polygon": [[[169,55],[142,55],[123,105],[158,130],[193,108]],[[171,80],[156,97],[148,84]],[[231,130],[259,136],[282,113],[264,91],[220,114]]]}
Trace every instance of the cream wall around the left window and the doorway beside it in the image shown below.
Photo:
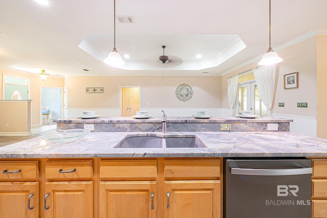
{"label": "cream wall around the left window and the doorway beside it", "polygon": [[6,69],[0,69],[0,76],[2,78],[1,84],[0,84],[0,99],[3,98],[3,75],[12,75],[12,76],[18,76],[18,77],[25,77],[29,78],[31,80],[31,123],[32,126],[38,126],[40,123],[40,88],[41,87],[63,87],[64,86],[64,79],[62,78],[51,78],[48,77],[46,80],[42,81],[38,75],[33,74],[24,74],[22,72],[18,71],[12,71],[12,70],[6,70]]}

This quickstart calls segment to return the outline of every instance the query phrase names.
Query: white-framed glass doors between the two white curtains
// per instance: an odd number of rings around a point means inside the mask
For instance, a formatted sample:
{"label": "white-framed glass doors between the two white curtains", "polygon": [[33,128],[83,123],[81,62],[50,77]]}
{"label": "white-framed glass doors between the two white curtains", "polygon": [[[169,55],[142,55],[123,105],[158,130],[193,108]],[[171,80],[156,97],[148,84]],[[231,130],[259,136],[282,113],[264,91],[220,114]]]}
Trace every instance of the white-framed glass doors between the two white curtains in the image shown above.
{"label": "white-framed glass doors between the two white curtains", "polygon": [[254,110],[255,115],[266,116],[267,108],[262,103],[253,72],[239,77],[239,113],[242,110]]}

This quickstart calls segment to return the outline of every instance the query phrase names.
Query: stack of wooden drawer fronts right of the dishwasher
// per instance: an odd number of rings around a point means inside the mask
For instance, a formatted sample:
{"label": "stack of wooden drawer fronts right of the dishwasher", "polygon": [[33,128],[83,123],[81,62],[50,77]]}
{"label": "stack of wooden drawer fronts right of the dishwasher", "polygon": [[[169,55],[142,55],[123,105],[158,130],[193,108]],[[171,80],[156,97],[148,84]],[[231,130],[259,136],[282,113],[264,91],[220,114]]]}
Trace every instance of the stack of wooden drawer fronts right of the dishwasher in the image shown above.
{"label": "stack of wooden drawer fronts right of the dishwasher", "polygon": [[327,160],[312,161],[312,217],[327,217]]}

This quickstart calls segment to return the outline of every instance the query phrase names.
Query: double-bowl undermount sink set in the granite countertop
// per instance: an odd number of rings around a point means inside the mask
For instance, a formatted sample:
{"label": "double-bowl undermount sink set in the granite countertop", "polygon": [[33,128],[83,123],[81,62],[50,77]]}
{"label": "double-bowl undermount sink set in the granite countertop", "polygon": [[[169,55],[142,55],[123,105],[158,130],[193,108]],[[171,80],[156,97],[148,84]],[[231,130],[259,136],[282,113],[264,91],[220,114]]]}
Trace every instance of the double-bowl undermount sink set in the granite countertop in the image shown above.
{"label": "double-bowl undermount sink set in the granite countertop", "polygon": [[128,135],[114,148],[206,148],[196,135]]}

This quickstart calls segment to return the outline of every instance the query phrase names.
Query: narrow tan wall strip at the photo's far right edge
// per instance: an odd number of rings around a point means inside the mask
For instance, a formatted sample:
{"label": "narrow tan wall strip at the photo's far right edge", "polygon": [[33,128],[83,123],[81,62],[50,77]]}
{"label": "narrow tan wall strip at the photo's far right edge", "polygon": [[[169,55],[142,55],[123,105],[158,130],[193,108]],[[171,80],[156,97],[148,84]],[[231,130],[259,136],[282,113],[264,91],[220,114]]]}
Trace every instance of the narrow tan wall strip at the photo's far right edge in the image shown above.
{"label": "narrow tan wall strip at the photo's far right edge", "polygon": [[327,138],[327,36],[317,36],[317,136]]}

